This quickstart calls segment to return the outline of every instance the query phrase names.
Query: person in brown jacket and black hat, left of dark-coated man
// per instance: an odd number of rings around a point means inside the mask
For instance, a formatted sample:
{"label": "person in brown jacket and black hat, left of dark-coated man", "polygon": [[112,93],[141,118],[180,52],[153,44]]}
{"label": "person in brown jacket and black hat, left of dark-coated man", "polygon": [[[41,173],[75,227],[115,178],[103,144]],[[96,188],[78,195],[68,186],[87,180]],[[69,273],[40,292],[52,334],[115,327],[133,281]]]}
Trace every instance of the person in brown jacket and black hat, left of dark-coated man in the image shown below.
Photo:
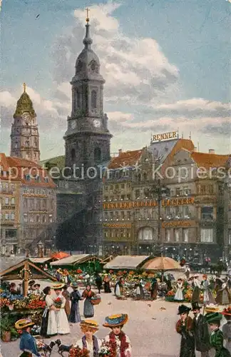
{"label": "person in brown jacket and black hat, left of dark-coated man", "polygon": [[175,329],[181,335],[180,357],[195,357],[195,340],[193,336],[193,319],[188,316],[190,308],[180,305],[178,315],[180,320],[176,323]]}

